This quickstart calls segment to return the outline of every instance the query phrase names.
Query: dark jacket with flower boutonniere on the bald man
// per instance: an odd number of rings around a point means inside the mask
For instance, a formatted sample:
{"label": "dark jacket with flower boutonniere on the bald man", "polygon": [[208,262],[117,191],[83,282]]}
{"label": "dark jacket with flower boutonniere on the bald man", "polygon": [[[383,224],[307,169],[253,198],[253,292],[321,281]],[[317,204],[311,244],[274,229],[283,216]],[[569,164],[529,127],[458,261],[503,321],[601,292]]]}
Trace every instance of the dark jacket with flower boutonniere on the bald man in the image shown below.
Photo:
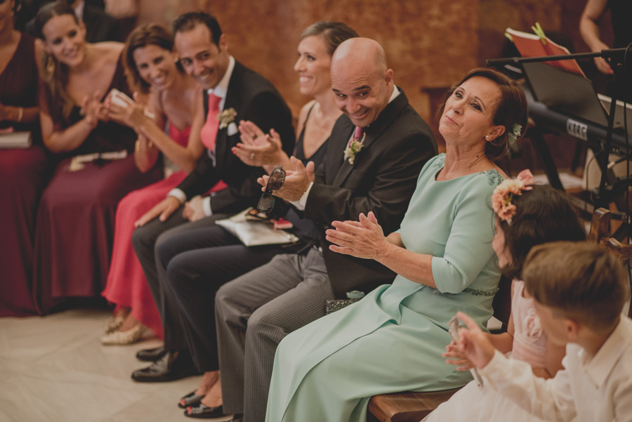
{"label": "dark jacket with flower boutonniere on the bald man", "polygon": [[[400,227],[423,164],[437,153],[433,132],[401,88],[400,95],[366,129],[364,147],[352,166],[343,159],[343,152],[354,128],[345,115],[336,121],[327,156],[305,204],[305,217],[330,225],[373,211],[388,235]],[[395,278],[394,272],[376,261],[329,251],[324,236],[321,246],[329,281],[339,298],[350,290],[367,293]]]}

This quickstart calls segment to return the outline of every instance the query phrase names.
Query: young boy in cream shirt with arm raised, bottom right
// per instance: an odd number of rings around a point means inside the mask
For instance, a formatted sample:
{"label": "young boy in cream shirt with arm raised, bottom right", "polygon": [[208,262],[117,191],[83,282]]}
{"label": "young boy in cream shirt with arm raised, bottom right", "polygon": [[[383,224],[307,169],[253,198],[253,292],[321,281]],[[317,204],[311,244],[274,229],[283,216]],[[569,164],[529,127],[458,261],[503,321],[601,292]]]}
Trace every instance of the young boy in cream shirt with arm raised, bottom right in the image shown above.
{"label": "young boy in cream shirt with arm raised, bottom right", "polygon": [[522,271],[542,328],[566,345],[564,369],[544,380],[508,360],[463,312],[459,349],[488,388],[547,421],[632,421],[632,320],[620,261],[594,244],[555,242],[532,249]]}

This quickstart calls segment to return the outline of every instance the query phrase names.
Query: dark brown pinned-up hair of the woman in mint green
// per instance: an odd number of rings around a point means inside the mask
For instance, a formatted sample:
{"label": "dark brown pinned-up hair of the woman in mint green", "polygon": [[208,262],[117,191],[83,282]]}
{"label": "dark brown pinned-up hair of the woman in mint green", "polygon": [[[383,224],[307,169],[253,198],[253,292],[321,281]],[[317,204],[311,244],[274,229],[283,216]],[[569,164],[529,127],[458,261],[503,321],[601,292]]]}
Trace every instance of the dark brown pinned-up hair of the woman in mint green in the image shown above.
{"label": "dark brown pinned-up hair of the woman in mint green", "polygon": [[485,143],[485,156],[488,159],[496,160],[506,154],[508,150],[507,142],[509,133],[514,124],[522,126],[520,137],[525,136],[525,131],[527,130],[527,97],[525,96],[525,92],[522,91],[522,88],[506,74],[494,69],[477,67],[466,73],[465,76],[453,84],[447,91],[437,109],[437,120],[441,117],[441,114],[443,114],[445,103],[450,95],[452,95],[454,91],[456,91],[456,88],[459,88],[463,82],[473,77],[487,78],[495,82],[501,90],[501,100],[496,105],[492,121],[495,125],[505,126],[505,133]]}

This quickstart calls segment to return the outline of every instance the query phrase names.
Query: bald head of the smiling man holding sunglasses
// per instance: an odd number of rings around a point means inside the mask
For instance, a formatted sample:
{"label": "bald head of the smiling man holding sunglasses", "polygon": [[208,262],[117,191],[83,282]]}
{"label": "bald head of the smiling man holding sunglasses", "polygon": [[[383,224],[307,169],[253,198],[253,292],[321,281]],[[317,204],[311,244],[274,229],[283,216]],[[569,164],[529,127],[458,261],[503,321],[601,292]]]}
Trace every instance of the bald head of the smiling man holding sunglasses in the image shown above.
{"label": "bald head of the smiling man holding sunglasses", "polygon": [[355,126],[369,126],[388,105],[393,93],[393,70],[386,53],[368,38],[341,43],[331,58],[331,88],[336,105]]}

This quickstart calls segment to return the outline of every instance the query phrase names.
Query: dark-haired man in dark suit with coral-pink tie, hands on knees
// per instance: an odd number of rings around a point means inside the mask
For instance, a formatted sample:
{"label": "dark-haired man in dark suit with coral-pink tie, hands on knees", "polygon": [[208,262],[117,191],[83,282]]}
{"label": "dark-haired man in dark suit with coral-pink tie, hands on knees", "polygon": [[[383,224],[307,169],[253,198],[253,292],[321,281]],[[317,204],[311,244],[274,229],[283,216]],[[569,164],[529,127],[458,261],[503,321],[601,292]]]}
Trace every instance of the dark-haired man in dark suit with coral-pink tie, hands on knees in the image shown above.
{"label": "dark-haired man in dark suit with coral-pink tie, hands on knees", "polygon": [[[206,121],[203,126],[196,126],[194,121],[192,131],[201,127],[207,150],[195,170],[140,218],[133,233],[134,250],[164,329],[163,348],[137,354],[140,360],[154,361],[132,374],[140,382],[171,381],[194,372],[183,320],[166,281],[165,265],[154,253],[155,246],[183,232],[195,235],[199,228],[214,225],[219,218],[256,206],[261,196],[257,178],[263,169],[246,166],[232,154],[232,147],[239,142],[239,120],[254,121],[264,131],[275,128],[282,137],[283,150],[291,154],[294,149],[291,113],[283,98],[270,81],[232,58],[215,18],[203,12],[185,13],[176,19],[173,29],[180,63],[205,91]],[[228,187],[191,201],[220,180]],[[198,219],[200,215],[204,218]]]}

